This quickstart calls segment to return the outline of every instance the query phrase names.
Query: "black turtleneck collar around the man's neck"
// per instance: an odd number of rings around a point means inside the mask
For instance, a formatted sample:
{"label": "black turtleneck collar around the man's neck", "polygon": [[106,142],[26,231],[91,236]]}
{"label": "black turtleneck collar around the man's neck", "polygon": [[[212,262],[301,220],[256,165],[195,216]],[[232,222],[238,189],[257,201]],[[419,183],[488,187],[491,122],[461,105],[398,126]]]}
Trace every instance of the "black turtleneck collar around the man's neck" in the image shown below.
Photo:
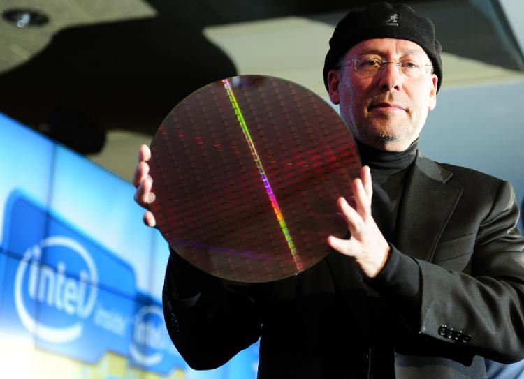
{"label": "black turtleneck collar around the man's neck", "polygon": [[414,140],[404,151],[384,151],[367,146],[355,140],[362,165],[368,165],[372,170],[381,172],[398,172],[408,168],[416,157],[419,139]]}

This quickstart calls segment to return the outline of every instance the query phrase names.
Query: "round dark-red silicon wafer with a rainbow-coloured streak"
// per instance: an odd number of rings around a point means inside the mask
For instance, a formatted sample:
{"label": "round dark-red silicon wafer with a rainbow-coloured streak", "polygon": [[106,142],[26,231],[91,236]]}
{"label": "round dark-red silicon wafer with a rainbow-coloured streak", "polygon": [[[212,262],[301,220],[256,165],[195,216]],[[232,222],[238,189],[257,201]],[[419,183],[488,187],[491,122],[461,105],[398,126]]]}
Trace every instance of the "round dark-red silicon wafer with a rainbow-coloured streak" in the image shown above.
{"label": "round dark-red silicon wafer with a rainbow-coloured streak", "polygon": [[248,283],[303,272],[347,225],[336,199],[361,164],[330,105],[259,75],[208,84],[178,104],[151,143],[151,210],[182,258]]}

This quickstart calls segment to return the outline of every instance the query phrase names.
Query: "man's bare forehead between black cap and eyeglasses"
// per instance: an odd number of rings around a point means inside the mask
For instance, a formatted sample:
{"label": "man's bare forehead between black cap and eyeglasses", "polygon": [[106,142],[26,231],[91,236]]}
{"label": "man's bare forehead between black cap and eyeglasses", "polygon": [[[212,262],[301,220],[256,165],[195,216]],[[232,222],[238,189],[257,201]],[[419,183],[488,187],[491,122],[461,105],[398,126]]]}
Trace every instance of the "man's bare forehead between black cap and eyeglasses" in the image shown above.
{"label": "man's bare forehead between black cap and eyeglasses", "polygon": [[363,40],[351,47],[346,56],[349,57],[361,54],[395,54],[398,56],[420,55],[429,60],[428,54],[425,53],[422,47],[410,40],[396,38],[372,38],[369,40]]}

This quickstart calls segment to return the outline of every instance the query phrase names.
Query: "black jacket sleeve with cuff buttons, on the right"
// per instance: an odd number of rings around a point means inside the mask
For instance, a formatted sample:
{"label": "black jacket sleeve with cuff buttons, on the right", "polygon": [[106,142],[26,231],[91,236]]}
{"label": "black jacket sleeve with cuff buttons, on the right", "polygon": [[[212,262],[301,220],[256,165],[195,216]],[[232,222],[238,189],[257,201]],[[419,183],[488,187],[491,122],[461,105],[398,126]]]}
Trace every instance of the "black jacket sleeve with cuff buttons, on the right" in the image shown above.
{"label": "black jacket sleeve with cuff buttons, on the right", "polygon": [[[374,286],[394,299],[422,336],[498,362],[524,359],[524,238],[517,222],[513,188],[501,182],[466,269],[453,271],[395,251],[401,268]],[[407,279],[414,275],[419,282]]]}

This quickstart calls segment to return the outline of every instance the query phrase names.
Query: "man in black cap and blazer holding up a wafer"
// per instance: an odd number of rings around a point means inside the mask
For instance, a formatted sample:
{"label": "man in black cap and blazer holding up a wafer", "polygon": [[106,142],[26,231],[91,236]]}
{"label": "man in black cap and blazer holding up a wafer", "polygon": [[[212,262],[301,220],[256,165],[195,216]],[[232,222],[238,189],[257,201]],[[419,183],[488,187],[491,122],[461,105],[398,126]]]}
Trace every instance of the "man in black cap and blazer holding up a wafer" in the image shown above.
{"label": "man in black cap and blazer holding up a wafer", "polygon": [[[442,83],[440,44],[405,5],[353,10],[323,70],[366,166],[338,207],[351,237],[296,277],[247,285],[175,253],[163,301],[173,342],[210,369],[261,337],[259,378],[485,378],[524,358],[524,238],[507,182],[419,154]],[[136,201],[154,201],[140,149]],[[154,215],[146,212],[147,225]]]}

